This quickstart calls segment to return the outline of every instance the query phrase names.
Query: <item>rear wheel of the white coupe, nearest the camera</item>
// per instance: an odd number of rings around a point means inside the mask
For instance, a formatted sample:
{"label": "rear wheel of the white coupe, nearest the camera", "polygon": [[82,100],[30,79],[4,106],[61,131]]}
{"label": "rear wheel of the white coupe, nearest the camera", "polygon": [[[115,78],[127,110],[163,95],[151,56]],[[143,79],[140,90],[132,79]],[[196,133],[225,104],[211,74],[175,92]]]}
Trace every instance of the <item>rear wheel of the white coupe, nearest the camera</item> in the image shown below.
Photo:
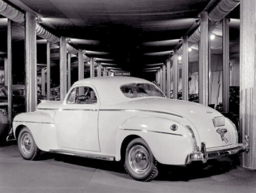
{"label": "rear wheel of the white coupe, nearest the camera", "polygon": [[158,175],[157,161],[142,138],[136,138],[127,145],[124,167],[138,181],[151,181]]}

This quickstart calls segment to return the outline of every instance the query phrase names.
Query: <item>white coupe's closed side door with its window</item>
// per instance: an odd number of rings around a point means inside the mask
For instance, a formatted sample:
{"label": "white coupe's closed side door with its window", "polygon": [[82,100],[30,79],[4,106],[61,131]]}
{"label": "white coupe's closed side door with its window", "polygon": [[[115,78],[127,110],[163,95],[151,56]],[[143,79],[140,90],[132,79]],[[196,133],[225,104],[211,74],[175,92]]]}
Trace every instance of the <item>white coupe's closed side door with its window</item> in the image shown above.
{"label": "white coupe's closed side door with its window", "polygon": [[90,86],[82,85],[69,92],[54,118],[61,149],[100,152],[99,105],[97,93]]}

